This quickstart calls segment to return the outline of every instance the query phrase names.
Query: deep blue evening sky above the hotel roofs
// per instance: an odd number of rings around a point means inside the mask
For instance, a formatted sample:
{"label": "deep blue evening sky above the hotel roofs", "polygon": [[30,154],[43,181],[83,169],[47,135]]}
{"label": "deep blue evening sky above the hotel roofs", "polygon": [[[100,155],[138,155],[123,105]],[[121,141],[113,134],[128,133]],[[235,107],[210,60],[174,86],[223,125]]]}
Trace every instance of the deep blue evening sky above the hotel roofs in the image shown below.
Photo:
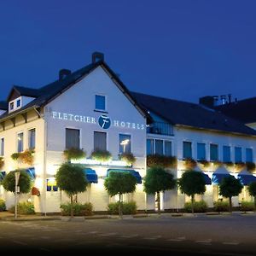
{"label": "deep blue evening sky above the hotel roofs", "polygon": [[0,0],[0,100],[90,63],[128,89],[198,102],[256,96],[256,1]]}

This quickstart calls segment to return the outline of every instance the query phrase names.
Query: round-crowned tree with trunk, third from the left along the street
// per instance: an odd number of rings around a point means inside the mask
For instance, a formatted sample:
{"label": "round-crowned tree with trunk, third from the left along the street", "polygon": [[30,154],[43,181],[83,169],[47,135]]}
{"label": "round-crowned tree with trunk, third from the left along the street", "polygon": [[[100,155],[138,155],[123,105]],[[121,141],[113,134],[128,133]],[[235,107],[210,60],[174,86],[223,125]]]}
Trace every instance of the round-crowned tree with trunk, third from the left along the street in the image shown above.
{"label": "round-crowned tree with trunk, third from the left along the street", "polygon": [[104,187],[108,195],[119,195],[119,218],[122,218],[122,195],[136,190],[137,179],[129,172],[109,172],[105,179]]}

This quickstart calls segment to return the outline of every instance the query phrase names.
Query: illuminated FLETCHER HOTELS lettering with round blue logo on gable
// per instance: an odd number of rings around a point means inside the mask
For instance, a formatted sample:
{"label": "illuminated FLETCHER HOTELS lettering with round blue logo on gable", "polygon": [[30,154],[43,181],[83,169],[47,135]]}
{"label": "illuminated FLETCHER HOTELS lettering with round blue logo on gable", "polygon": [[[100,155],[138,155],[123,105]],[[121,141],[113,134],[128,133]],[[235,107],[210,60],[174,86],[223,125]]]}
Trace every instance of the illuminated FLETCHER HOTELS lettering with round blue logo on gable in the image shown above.
{"label": "illuminated FLETCHER HOTELS lettering with round blue logo on gable", "polygon": [[86,123],[86,124],[94,124],[94,125],[100,125],[102,129],[107,130],[111,126],[113,127],[119,127],[119,128],[126,128],[126,129],[134,129],[134,130],[144,130],[145,125],[143,124],[137,124],[137,123],[131,123],[123,120],[117,120],[117,119],[110,119],[108,115],[102,114],[99,118],[91,117],[91,116],[84,116],[79,114],[73,114],[73,113],[61,113],[53,111],[51,113],[51,117],[53,119],[63,120],[63,121],[73,121],[73,122],[80,122],[80,123]]}

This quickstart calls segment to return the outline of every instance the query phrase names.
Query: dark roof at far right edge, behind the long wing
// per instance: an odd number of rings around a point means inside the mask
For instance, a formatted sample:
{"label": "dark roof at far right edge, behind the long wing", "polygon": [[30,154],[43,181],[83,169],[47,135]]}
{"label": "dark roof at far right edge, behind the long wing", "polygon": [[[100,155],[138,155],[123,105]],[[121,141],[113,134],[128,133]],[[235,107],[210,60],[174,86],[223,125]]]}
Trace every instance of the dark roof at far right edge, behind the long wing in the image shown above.
{"label": "dark roof at far right edge, behind the long wing", "polygon": [[256,122],[256,97],[215,108],[234,119],[239,119],[244,124]]}

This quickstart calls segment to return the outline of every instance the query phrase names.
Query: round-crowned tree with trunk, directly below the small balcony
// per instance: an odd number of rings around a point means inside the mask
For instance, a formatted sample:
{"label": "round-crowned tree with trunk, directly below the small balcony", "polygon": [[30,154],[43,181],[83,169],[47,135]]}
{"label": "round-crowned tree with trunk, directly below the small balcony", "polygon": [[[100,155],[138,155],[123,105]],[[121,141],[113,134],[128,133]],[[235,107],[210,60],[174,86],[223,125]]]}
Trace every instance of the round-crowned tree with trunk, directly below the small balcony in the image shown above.
{"label": "round-crowned tree with trunk, directly below the small balcony", "polygon": [[153,166],[148,169],[146,176],[144,177],[144,191],[147,194],[156,193],[158,213],[160,214],[160,192],[174,189],[176,181],[173,179],[172,173],[166,172],[166,170],[160,166]]}

